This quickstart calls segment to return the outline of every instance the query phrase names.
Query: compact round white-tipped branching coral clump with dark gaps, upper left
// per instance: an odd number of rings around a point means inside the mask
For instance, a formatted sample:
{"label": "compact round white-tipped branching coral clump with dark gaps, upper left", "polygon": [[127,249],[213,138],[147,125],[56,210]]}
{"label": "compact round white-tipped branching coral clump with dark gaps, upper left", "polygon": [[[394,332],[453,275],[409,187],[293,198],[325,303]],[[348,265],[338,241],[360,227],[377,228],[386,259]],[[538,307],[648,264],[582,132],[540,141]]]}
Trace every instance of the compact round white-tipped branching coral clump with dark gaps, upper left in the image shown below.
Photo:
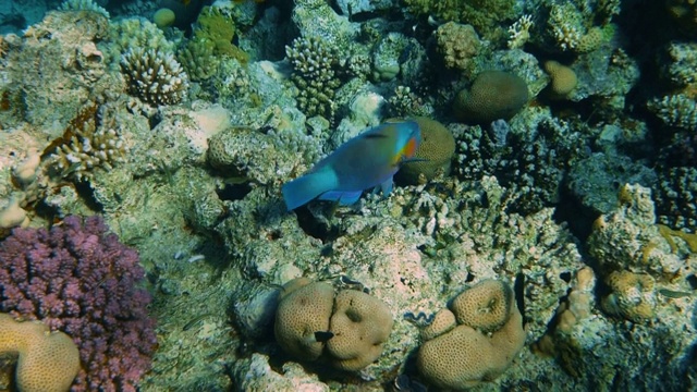
{"label": "compact round white-tipped branching coral clump with dark gaps, upper left", "polygon": [[129,90],[150,105],[174,105],[186,96],[188,76],[171,53],[133,48],[121,57]]}

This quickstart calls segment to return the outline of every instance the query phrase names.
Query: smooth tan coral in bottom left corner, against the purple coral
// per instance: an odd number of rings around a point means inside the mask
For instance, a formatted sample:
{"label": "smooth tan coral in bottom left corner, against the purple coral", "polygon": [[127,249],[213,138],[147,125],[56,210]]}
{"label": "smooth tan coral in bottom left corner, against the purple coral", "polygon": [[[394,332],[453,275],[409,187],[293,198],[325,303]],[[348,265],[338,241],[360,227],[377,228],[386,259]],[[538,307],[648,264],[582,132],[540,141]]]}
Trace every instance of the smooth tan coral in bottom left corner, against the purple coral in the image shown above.
{"label": "smooth tan coral in bottom left corner, against the purple coral", "polygon": [[19,354],[15,382],[22,392],[65,392],[80,370],[80,353],[69,335],[0,314],[0,354],[8,353]]}

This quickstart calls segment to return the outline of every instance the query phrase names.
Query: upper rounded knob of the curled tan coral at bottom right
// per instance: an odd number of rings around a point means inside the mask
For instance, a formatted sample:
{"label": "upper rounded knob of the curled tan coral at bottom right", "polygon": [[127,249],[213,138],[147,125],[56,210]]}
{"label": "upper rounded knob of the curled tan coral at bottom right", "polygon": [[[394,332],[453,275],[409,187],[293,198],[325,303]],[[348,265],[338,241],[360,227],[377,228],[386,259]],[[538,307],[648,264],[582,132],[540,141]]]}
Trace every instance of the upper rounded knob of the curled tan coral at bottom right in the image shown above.
{"label": "upper rounded knob of the curled tan coral at bottom right", "polygon": [[484,333],[500,329],[508,320],[513,306],[513,290],[505,282],[485,280],[453,299],[450,308],[457,323]]}

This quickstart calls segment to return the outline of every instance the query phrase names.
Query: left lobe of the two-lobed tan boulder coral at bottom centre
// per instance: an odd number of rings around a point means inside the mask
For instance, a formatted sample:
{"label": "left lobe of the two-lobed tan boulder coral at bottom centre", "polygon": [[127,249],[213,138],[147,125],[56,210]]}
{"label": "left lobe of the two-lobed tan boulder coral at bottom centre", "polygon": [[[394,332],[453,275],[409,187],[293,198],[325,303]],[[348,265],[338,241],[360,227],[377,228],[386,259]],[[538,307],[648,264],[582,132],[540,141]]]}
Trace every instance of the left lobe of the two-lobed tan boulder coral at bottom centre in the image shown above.
{"label": "left lobe of the two-lobed tan boulder coral at bottom centre", "polygon": [[286,353],[298,359],[316,360],[325,342],[316,332],[329,330],[334,305],[334,287],[327,283],[294,279],[283,286],[273,326],[276,340]]}

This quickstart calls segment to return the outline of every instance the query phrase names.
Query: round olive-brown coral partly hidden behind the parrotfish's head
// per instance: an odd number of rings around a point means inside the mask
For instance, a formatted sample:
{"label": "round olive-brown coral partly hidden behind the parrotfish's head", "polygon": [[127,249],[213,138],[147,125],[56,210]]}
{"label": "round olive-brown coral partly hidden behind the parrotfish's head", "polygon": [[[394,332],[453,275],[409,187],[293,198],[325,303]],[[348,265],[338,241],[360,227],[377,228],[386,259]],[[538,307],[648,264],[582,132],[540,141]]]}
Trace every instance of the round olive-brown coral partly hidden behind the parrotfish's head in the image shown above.
{"label": "round olive-brown coral partly hidden behind the parrotfish's head", "polygon": [[396,180],[405,184],[421,184],[439,174],[448,175],[453,155],[455,138],[443,124],[424,117],[413,118],[421,131],[421,144],[414,156],[415,161],[402,166]]}

